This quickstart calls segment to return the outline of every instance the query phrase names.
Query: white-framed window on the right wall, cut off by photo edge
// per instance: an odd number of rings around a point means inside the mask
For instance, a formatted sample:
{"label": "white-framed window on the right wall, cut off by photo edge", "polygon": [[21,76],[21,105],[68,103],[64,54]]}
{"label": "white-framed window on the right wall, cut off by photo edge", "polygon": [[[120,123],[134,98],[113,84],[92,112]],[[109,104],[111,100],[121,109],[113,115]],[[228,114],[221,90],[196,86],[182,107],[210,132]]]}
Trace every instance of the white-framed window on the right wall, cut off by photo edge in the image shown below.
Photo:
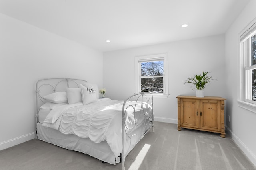
{"label": "white-framed window on the right wall, cut off by photo edge", "polygon": [[256,23],[240,36],[240,100],[256,106]]}

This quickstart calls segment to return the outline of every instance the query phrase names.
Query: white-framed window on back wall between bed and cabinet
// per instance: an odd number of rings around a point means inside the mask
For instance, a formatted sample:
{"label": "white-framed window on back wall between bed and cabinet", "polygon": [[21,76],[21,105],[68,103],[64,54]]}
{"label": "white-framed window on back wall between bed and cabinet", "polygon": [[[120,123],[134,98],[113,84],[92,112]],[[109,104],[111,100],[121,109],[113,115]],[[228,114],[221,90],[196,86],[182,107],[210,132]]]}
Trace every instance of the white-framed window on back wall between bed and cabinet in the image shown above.
{"label": "white-framed window on back wall between bed and cabinet", "polygon": [[140,56],[135,58],[136,93],[152,92],[168,95],[167,54]]}

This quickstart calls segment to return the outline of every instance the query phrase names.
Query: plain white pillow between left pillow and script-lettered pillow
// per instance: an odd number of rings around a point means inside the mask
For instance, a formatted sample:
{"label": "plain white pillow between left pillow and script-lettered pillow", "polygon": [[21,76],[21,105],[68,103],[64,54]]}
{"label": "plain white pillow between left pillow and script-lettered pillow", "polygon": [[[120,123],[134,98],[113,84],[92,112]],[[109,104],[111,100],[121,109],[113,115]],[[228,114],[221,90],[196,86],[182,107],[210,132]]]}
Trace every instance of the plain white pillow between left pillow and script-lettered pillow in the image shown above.
{"label": "plain white pillow between left pillow and script-lettered pillow", "polygon": [[68,104],[82,102],[81,88],[66,88]]}

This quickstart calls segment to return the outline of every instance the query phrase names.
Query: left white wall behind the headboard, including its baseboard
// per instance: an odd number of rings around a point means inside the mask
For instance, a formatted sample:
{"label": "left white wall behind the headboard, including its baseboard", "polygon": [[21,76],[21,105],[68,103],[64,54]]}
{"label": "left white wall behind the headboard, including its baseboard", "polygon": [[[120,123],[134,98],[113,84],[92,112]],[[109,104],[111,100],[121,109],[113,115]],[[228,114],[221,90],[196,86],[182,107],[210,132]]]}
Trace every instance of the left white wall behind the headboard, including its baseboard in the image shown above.
{"label": "left white wall behind the headboard, including its baseboard", "polygon": [[0,150],[35,137],[36,81],[85,79],[102,87],[103,54],[0,13]]}

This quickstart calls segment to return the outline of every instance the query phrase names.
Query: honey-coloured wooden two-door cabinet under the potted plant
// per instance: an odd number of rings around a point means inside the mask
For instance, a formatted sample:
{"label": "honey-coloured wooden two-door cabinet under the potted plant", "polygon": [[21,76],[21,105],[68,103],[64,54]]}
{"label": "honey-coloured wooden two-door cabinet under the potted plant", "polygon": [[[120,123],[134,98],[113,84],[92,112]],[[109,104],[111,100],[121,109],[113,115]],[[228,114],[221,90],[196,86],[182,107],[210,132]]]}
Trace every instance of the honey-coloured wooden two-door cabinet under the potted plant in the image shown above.
{"label": "honey-coloured wooden two-door cabinet under the potted plant", "polygon": [[177,96],[178,130],[196,129],[220,133],[225,137],[224,105],[221,97]]}

